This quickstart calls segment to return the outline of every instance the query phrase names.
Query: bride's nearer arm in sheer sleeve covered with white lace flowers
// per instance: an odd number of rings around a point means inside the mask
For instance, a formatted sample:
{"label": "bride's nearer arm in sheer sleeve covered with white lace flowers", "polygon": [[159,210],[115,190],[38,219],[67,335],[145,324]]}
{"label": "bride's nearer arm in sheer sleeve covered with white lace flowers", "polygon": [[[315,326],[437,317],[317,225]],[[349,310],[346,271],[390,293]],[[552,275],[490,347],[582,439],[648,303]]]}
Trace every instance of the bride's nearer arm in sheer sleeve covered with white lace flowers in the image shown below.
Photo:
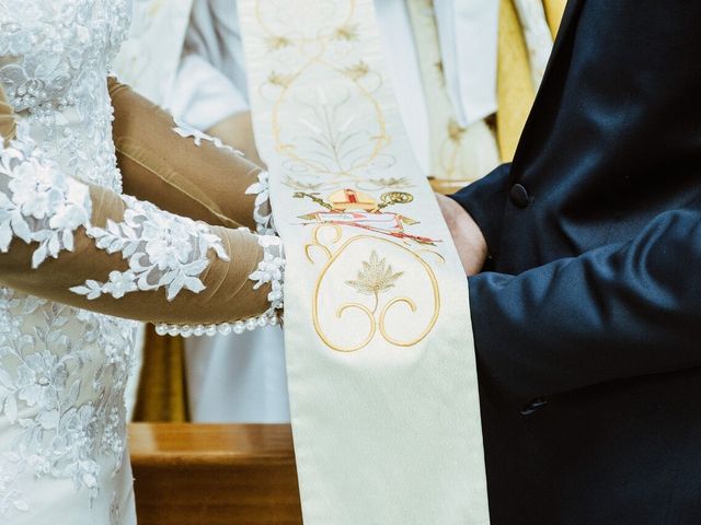
{"label": "bride's nearer arm in sheer sleeve covered with white lace flowers", "polygon": [[281,306],[277,238],[80,182],[42,154],[22,121],[15,135],[0,140],[0,284],[172,324],[273,318]]}

